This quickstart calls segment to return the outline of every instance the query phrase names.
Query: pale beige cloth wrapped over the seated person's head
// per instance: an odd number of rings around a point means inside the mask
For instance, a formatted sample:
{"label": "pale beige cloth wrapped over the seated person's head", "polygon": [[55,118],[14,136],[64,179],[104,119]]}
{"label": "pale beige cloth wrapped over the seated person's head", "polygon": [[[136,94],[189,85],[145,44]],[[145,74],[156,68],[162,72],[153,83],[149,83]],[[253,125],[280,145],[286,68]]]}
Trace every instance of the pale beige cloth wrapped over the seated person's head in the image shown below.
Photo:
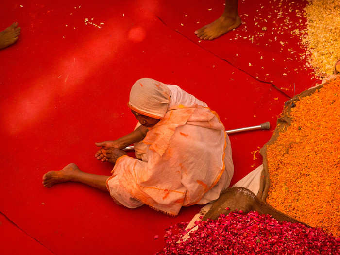
{"label": "pale beige cloth wrapped over the seated person's head", "polygon": [[137,113],[162,119],[169,104],[169,89],[161,82],[150,78],[142,78],[136,81],[131,88],[128,105]]}

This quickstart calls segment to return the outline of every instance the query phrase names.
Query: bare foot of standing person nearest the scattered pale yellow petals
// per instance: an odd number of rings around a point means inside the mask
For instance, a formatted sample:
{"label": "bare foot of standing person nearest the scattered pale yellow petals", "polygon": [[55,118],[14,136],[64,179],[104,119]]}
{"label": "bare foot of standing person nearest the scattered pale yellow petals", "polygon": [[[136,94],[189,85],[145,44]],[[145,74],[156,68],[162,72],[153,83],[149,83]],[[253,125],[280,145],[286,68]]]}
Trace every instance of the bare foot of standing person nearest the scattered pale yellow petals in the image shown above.
{"label": "bare foot of standing person nearest the scattered pale yellow petals", "polygon": [[241,18],[236,15],[235,17],[226,16],[223,14],[214,22],[205,25],[203,28],[195,31],[197,37],[203,40],[213,40],[230,30],[237,28],[241,24]]}

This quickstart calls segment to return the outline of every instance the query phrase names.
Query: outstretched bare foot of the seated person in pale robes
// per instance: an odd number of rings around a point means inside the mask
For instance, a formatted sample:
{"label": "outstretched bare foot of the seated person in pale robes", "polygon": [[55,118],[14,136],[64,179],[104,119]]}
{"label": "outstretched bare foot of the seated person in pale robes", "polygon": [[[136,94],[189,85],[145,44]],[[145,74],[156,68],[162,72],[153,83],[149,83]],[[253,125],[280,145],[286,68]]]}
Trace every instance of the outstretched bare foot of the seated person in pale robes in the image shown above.
{"label": "outstretched bare foot of the seated person in pale robes", "polygon": [[76,164],[68,164],[60,171],[49,171],[44,174],[42,184],[45,187],[51,187],[57,183],[64,183],[72,181],[73,178],[82,171],[77,167]]}

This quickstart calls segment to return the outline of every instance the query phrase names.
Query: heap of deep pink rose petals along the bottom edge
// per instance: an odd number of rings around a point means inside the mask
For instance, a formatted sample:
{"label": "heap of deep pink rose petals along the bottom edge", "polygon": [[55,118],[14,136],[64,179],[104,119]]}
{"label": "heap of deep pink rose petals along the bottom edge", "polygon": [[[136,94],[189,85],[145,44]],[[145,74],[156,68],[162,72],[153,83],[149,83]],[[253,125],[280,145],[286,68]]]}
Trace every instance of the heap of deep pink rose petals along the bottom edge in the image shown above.
{"label": "heap of deep pink rose petals along the bottom edge", "polygon": [[167,254],[340,254],[340,238],[321,228],[301,223],[279,222],[255,211],[233,211],[217,220],[196,221],[198,230],[180,241],[189,230],[187,222],[166,230],[166,246],[157,255]]}

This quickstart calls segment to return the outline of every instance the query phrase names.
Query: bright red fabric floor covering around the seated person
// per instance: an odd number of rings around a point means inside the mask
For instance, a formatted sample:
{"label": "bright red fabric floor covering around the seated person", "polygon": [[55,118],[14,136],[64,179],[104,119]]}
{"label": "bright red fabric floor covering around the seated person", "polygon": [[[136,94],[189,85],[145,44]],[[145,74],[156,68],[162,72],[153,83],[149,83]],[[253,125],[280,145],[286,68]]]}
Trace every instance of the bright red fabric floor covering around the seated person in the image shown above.
{"label": "bright red fabric floor covering around the seated person", "polygon": [[[94,142],[134,128],[136,119],[126,103],[131,85],[142,77],[179,85],[207,102],[226,129],[265,121],[273,129],[289,99],[281,92],[292,96],[293,83],[299,93],[316,80],[295,55],[288,56],[290,48],[302,51],[298,39],[288,35],[295,27],[271,44],[272,34],[253,43],[230,40],[259,29],[251,25],[259,17],[257,9],[264,15],[282,8],[275,1],[269,7],[260,2],[262,9],[251,0],[239,3],[247,31],[242,25],[211,42],[198,42],[193,31],[219,17],[222,0],[1,2],[0,27],[18,21],[22,31],[15,45],[0,51],[0,211],[7,216],[0,217],[1,254],[159,251],[165,228],[189,221],[201,206],[183,208],[173,218],[147,206],[117,206],[108,194],[80,184],[47,189],[41,177],[71,162],[81,170],[109,175],[112,165],[94,158]],[[305,4],[295,1],[294,8]],[[279,22],[276,16],[268,19],[268,30],[275,20]],[[280,40],[288,42],[282,53]],[[252,152],[271,136],[271,131],[230,136],[232,184],[261,164],[259,154],[254,160]],[[154,240],[155,235],[160,238]]]}

